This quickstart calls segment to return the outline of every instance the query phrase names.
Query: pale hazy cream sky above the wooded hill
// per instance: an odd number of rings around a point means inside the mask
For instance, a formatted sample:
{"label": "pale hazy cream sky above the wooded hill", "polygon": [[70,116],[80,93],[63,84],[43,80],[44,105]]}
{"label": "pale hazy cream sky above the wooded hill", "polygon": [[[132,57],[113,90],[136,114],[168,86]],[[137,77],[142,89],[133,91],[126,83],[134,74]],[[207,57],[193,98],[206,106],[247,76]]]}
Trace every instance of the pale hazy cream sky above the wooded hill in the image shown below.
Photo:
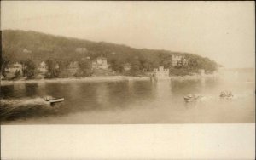
{"label": "pale hazy cream sky above the wooded hill", "polygon": [[255,65],[254,2],[1,2],[1,29],[42,31]]}

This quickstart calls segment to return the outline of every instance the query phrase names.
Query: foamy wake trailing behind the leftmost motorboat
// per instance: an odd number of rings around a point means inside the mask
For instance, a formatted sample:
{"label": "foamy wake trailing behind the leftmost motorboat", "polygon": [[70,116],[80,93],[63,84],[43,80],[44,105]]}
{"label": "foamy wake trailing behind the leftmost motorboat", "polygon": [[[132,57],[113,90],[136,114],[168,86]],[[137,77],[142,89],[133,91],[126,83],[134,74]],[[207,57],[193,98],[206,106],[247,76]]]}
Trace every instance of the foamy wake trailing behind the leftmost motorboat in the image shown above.
{"label": "foamy wake trailing behind the leftmost motorboat", "polygon": [[27,117],[44,117],[56,114],[59,107],[49,106],[43,99],[3,99],[0,100],[1,121],[11,121]]}

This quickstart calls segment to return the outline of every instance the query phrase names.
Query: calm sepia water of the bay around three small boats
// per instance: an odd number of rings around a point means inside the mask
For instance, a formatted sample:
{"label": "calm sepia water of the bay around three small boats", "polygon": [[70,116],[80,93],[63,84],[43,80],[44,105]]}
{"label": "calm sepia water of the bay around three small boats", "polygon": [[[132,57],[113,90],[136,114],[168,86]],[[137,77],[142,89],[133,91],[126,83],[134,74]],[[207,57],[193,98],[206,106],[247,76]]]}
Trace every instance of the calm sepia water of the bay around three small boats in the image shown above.
{"label": "calm sepia water of the bay around three small boats", "polygon": [[[3,124],[255,123],[254,70],[199,80],[38,83],[1,86]],[[233,100],[221,100],[230,90]],[[186,94],[201,94],[184,102]],[[41,97],[64,97],[55,106]]]}

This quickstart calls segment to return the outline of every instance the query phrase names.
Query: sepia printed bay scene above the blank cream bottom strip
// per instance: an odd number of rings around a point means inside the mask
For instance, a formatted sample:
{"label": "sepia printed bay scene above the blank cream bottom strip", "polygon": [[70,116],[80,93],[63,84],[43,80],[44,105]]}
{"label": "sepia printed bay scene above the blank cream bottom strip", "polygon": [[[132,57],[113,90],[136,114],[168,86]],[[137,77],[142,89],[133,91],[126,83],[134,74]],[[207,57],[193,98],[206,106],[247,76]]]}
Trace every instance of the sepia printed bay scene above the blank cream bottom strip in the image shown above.
{"label": "sepia printed bay scene above the blank cream bottom strip", "polygon": [[2,132],[255,125],[254,5],[1,1]]}

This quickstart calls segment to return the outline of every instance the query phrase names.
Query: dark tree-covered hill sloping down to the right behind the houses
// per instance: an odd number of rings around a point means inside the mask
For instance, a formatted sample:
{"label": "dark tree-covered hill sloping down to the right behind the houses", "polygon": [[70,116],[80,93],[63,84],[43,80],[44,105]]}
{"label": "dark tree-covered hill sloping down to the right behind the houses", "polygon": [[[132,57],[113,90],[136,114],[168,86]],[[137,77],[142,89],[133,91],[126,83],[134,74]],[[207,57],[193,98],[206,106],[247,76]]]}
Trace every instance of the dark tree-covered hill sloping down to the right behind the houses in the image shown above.
{"label": "dark tree-covered hill sloping down to the right behind the houses", "polygon": [[[183,55],[186,60],[189,60],[188,65],[172,68],[172,54]],[[176,70],[176,72],[197,71],[198,69],[212,72],[217,69],[216,62],[197,54],[156,49],[134,49],[120,44],[96,43],[36,31],[2,31],[2,64],[3,61],[15,62],[27,59],[33,60],[36,64],[49,59],[72,61],[90,57],[90,60],[94,60],[100,55],[105,56],[114,70],[117,71],[121,64],[127,62],[133,66],[137,65],[137,70],[141,71],[152,71],[154,67],[158,66],[172,68],[172,71]]]}

